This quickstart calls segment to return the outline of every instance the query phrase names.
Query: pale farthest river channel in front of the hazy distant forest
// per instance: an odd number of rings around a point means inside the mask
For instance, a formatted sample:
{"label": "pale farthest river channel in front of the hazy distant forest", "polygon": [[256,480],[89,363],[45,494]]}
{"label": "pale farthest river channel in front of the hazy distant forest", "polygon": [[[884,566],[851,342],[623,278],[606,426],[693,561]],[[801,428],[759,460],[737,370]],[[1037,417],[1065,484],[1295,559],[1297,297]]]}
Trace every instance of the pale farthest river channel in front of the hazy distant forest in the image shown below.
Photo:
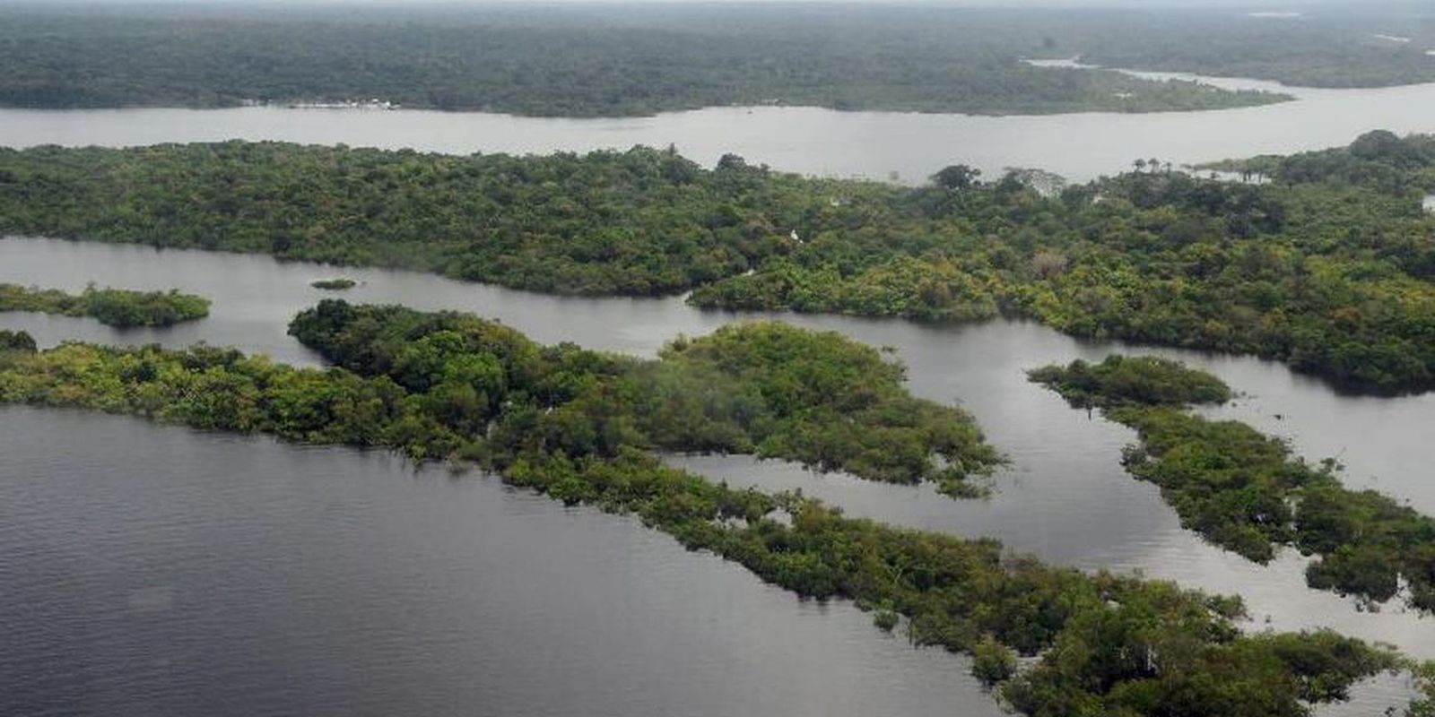
{"label": "pale farthest river channel in front of the hazy distant forest", "polygon": [[425,110],[241,108],[218,110],[0,109],[0,143],[154,145],[276,139],[435,152],[548,153],[667,146],[702,162],[736,152],[778,169],[921,182],[964,162],[987,175],[1039,166],[1085,181],[1134,158],[1174,163],[1346,145],[1362,132],[1435,130],[1435,85],[1330,90],[1178,73],[1233,89],[1269,89],[1294,102],[1214,112],[1045,116],[837,112],[817,108],[710,108],[653,118],[547,119]]}

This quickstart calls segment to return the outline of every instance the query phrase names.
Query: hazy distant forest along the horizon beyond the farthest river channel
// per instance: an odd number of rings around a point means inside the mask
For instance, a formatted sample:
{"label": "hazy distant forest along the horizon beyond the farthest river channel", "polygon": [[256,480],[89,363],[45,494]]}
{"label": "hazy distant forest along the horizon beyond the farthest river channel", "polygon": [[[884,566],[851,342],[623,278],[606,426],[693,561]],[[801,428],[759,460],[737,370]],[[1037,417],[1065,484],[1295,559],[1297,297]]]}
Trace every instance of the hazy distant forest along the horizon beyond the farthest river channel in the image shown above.
{"label": "hazy distant forest along the horizon beyond the farthest river channel", "polygon": [[[0,105],[191,106],[380,99],[532,116],[722,105],[967,113],[1159,112],[1274,93],[1043,69],[1108,67],[1352,87],[1435,82],[1435,13],[782,7],[243,7],[0,11]],[[1398,33],[1398,34],[1392,34]],[[1391,39],[1393,37],[1393,39]],[[1408,40],[1408,42],[1401,42]]]}

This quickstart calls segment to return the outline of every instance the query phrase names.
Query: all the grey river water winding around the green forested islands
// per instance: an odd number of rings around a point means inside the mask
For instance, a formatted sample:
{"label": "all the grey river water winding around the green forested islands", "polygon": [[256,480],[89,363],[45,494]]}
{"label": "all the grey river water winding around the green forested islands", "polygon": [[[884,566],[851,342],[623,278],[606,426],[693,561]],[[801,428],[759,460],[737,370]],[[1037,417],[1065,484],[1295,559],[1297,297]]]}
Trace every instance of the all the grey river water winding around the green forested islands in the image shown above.
{"label": "all the grey river water winding around the green forested islands", "polygon": [[[1211,80],[1257,86],[1247,80]],[[1269,87],[1267,87],[1269,89]],[[920,181],[966,162],[1043,166],[1073,179],[1135,156],[1200,162],[1435,130],[1435,85],[1284,89],[1296,102],[1170,115],[971,118],[719,108],[563,120],[436,112],[0,109],[0,145],[144,145],[283,139],[439,152],[551,152],[667,145],[697,159],[738,152],[779,169]],[[92,320],[0,314],[44,346],[62,340],[235,346],[316,364],[284,334],[326,294],[333,267],[197,251],[0,241],[0,282],[86,282],[199,293],[208,320],[118,331]],[[352,301],[458,308],[541,341],[651,356],[679,333],[751,317],[677,298],[564,298],[430,275],[343,270]],[[897,348],[914,393],[969,409],[1012,459],[996,496],[781,462],[673,456],[735,483],[802,488],[852,513],[964,536],[1081,568],[1142,571],[1243,595],[1253,630],[1332,627],[1435,657],[1432,622],[1304,588],[1302,561],[1256,566],[1182,531],[1119,467],[1129,430],[1068,409],[1023,371],[1099,358],[1022,321],[924,326],[781,315]],[[1217,414],[1337,456],[1346,480],[1435,512],[1426,479],[1435,396],[1340,396],[1254,358],[1155,350],[1246,396]],[[557,506],[484,478],[415,472],[382,453],[301,449],[132,419],[0,410],[0,714],[999,714],[963,660],[911,650],[845,604],[802,602],[740,568],[686,554],[633,521]],[[1379,680],[1332,714],[1373,714],[1403,684]]]}

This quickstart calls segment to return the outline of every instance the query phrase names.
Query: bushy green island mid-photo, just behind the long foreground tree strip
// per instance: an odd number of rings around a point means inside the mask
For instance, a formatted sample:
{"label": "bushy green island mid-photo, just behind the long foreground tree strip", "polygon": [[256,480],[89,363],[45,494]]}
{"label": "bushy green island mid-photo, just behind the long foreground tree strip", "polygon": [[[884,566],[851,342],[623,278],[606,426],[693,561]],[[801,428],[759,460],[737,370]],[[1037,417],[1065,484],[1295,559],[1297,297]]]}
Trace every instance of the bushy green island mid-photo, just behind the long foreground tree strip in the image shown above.
{"label": "bushy green island mid-photo, just behind the long foreground tree strip", "polygon": [[301,313],[290,333],[339,366],[426,391],[430,413],[474,433],[527,402],[544,412],[525,419],[532,433],[498,439],[568,456],[626,445],[756,453],[960,496],[980,493],[969,479],[1000,462],[970,416],[910,396],[877,350],[781,323],[680,338],[657,361],[538,347],[466,314],[343,301]]}

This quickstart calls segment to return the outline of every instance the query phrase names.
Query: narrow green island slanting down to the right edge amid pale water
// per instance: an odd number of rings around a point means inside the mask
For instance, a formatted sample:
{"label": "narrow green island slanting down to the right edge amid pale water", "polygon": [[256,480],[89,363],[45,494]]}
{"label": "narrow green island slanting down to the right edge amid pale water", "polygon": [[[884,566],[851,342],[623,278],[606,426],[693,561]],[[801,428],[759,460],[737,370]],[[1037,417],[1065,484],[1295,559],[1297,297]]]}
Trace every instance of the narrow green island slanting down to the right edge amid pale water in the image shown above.
{"label": "narrow green island slanting down to the right edge amid pale water", "polygon": [[1122,463],[1161,488],[1181,523],[1221,548],[1266,562],[1279,546],[1319,559],[1313,588],[1385,602],[1398,594],[1435,611],[1435,519],[1375,490],[1342,486],[1333,460],[1317,466],[1284,442],[1233,420],[1185,410],[1224,403],[1214,376],[1174,361],[1111,356],[1030,373],[1078,407],[1099,407],[1137,430]]}

